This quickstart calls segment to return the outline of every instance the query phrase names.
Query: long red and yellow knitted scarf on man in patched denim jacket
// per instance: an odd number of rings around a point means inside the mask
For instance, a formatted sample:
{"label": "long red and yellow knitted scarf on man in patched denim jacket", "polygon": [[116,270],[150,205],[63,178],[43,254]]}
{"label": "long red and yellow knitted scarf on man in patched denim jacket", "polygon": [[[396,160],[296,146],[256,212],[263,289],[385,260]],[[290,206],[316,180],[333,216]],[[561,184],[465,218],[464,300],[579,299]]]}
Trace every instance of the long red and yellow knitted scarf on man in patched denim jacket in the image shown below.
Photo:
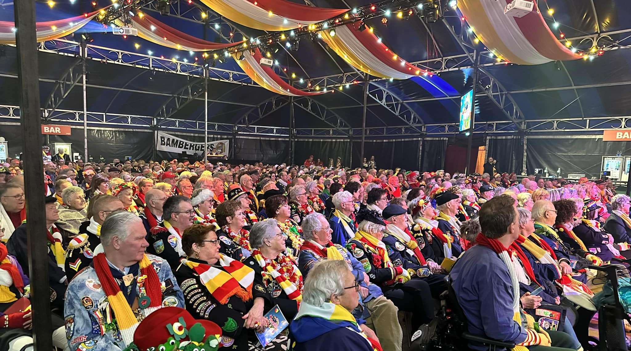
{"label": "long red and yellow knitted scarf on man in patched denim jacket", "polygon": [[[122,294],[119,283],[112,276],[110,267],[107,264],[107,258],[105,258],[105,253],[101,252],[94,256],[92,264],[97,273],[98,281],[103,287],[103,292],[105,292],[105,296],[107,296],[107,301],[112,311],[114,311],[114,316],[116,316],[115,323],[119,331],[121,331],[122,340],[125,345],[129,345],[134,340],[134,331],[136,331],[139,321],[131,310],[131,306],[127,303],[125,296]],[[155,269],[153,269],[147,255],[143,255],[143,259],[140,260],[139,269],[139,275],[146,276],[144,287],[147,296],[151,299],[149,307],[142,311],[146,317],[161,307],[162,290],[160,288],[158,274]]]}

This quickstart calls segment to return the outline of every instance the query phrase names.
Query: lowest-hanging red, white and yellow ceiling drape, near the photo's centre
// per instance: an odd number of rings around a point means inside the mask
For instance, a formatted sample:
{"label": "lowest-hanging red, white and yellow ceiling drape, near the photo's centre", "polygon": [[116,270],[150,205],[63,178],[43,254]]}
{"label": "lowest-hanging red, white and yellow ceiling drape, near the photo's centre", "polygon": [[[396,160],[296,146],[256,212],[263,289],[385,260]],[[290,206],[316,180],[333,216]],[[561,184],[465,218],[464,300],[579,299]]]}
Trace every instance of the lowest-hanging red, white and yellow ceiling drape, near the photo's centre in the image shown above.
{"label": "lowest-hanging red, white and yellow ceiling drape, near the photo's centre", "polygon": [[[244,55],[245,59],[239,60],[240,55]],[[283,81],[272,67],[259,64],[261,58],[261,50],[254,49],[254,55],[251,52],[237,52],[232,54],[232,57],[237,61],[239,67],[252,78],[257,84],[274,93],[288,96],[313,96],[326,93],[326,91],[319,91],[310,93],[294,88],[286,81]]]}

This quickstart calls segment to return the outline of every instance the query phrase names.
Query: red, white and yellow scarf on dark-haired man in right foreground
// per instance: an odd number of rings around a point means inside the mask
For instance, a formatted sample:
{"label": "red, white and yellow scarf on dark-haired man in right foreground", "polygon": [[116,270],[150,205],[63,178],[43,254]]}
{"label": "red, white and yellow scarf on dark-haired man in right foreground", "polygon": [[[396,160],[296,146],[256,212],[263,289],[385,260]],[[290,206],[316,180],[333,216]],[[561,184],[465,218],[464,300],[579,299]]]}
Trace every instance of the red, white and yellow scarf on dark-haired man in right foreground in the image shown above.
{"label": "red, white and yellow scarf on dark-haired man in right foreground", "polygon": [[[515,272],[515,267],[512,265],[512,260],[508,253],[507,248],[500,243],[497,239],[490,239],[484,236],[482,233],[478,234],[475,239],[477,245],[485,246],[493,250],[499,256],[500,260],[504,262],[506,268],[509,271],[510,283],[512,284],[512,308],[513,308],[513,320],[516,321],[517,324],[524,327],[522,318],[528,318],[526,313],[521,311],[521,301],[519,300],[519,280],[517,280],[517,272]],[[525,329],[525,328],[524,328]],[[537,333],[537,331],[533,329],[526,329],[526,340],[524,342],[518,343],[512,350],[515,351],[527,351],[528,346],[540,345],[543,338],[549,338],[544,333]],[[549,345],[549,343],[548,343]]]}

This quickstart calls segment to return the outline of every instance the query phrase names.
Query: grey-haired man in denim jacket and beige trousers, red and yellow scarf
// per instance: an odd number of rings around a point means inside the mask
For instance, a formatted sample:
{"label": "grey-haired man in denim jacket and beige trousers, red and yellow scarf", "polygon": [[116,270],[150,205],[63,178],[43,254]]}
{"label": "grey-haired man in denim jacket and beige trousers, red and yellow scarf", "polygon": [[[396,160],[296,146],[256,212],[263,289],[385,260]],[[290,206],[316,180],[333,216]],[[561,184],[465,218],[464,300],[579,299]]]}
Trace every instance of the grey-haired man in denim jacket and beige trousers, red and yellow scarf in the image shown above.
{"label": "grey-haired man in denim jacket and beige trousers, red and yellow scarf", "polygon": [[356,318],[367,319],[367,325],[376,331],[382,347],[386,350],[401,350],[403,334],[398,323],[397,308],[392,301],[384,297],[379,286],[370,282],[362,263],[357,258],[344,246],[331,243],[331,226],[326,218],[319,213],[305,217],[302,221],[302,236],[305,243],[300,247],[298,268],[304,277],[307,277],[315,262],[324,258],[346,261],[355,277],[353,283],[360,285],[358,289],[362,297],[362,306],[367,308],[367,313],[356,310],[353,315]]}

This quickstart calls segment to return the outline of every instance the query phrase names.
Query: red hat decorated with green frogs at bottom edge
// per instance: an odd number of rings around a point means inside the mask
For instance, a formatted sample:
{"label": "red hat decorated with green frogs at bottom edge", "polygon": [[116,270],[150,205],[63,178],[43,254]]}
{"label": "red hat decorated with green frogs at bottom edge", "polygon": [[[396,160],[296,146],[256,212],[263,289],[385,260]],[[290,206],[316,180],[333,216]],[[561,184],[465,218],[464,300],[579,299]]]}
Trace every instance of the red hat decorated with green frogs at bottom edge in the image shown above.
{"label": "red hat decorated with green frogs at bottom edge", "polygon": [[140,322],[134,332],[134,345],[139,351],[182,350],[191,343],[198,349],[216,351],[221,346],[220,340],[221,328],[216,323],[195,319],[186,309],[179,307],[163,307],[154,311]]}

